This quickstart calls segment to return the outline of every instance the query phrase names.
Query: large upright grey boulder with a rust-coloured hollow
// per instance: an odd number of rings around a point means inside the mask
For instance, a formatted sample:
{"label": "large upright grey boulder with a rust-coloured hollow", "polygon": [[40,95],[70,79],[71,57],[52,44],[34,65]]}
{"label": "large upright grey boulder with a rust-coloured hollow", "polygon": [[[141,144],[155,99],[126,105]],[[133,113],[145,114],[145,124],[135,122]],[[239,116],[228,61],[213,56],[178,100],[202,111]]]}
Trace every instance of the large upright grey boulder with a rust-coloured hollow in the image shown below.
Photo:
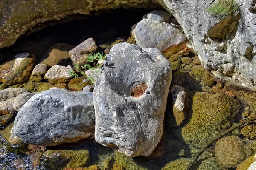
{"label": "large upright grey boulder with a rust-coloured hollow", "polygon": [[128,156],[149,156],[163,134],[171,78],[159,50],[114,45],[93,91],[95,140]]}

